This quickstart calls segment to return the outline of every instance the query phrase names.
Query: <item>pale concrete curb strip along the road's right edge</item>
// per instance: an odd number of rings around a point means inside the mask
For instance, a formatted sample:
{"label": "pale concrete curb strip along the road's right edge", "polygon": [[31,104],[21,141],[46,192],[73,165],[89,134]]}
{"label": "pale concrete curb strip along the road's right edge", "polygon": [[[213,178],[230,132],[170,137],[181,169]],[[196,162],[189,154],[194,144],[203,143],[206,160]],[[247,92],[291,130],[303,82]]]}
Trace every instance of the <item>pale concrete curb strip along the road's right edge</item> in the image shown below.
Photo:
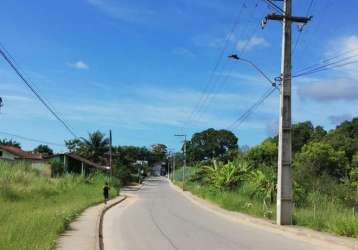
{"label": "pale concrete curb strip along the road's right edge", "polygon": [[354,238],[334,236],[329,233],[319,232],[300,226],[278,226],[276,224],[273,224],[269,220],[256,218],[240,212],[225,210],[214,203],[211,203],[205,199],[193,195],[189,191],[183,191],[182,189],[180,189],[180,187],[176,186],[171,181],[169,181],[169,183],[174,190],[182,194],[192,203],[206,209],[207,211],[225,217],[226,219],[233,220],[239,223],[250,224],[260,229],[269,230],[278,234],[285,234],[291,238],[308,241],[311,243],[319,244],[321,246],[322,244],[324,244],[325,246],[327,246],[327,249],[358,250],[358,240]]}

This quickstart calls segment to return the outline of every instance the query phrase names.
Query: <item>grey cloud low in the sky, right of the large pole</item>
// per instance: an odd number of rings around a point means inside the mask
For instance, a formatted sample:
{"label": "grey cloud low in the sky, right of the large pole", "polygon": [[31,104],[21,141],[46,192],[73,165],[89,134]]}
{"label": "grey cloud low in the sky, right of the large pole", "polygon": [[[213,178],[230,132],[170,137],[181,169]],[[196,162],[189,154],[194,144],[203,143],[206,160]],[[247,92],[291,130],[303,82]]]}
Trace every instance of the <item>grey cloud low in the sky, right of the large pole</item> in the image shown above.
{"label": "grey cloud low in the sky, right of the large pole", "polygon": [[302,99],[315,101],[358,100],[358,82],[351,79],[320,80],[299,85]]}

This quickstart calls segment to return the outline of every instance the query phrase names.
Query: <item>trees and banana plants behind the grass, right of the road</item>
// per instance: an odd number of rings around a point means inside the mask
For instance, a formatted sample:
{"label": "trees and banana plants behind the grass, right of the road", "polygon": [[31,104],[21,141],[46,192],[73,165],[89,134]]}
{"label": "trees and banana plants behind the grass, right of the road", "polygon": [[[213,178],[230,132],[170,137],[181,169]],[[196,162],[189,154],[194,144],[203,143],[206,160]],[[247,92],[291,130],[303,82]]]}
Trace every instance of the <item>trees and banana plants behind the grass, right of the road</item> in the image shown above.
{"label": "trees and banana plants behind the grass, right of the road", "polygon": [[[251,190],[264,204],[276,200],[278,136],[240,148],[227,130],[207,129],[187,142],[191,182],[214,190]],[[326,199],[358,206],[358,118],[326,131],[305,121],[292,127],[295,206]],[[319,198],[317,198],[319,197]]]}

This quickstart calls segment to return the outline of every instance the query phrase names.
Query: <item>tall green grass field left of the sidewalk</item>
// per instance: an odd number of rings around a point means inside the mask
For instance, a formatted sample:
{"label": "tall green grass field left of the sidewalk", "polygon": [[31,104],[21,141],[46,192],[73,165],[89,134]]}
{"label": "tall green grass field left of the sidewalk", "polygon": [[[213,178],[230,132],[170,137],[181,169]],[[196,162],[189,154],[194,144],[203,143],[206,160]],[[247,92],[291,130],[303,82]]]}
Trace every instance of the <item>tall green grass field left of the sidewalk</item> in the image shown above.
{"label": "tall green grass field left of the sidewalk", "polygon": [[106,178],[50,178],[25,164],[0,162],[0,249],[52,249],[74,218],[102,201]]}

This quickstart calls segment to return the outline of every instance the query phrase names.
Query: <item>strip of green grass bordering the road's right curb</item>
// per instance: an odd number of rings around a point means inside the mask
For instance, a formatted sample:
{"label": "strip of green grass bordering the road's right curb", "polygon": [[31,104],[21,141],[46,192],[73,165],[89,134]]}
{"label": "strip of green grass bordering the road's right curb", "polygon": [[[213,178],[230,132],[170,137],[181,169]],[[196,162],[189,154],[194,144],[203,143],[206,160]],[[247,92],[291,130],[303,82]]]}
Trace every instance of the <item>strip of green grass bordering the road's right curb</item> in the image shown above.
{"label": "strip of green grass bordering the road's right curb", "polygon": [[[181,169],[177,171],[180,173],[174,174],[175,183],[181,186]],[[188,174],[193,172],[194,169],[189,170]],[[249,183],[234,190],[217,190],[192,181],[187,181],[185,187],[194,195],[209,200],[224,209],[272,221],[276,218],[276,204],[263,202],[263,199],[253,196],[253,186]],[[294,209],[294,224],[337,235],[358,237],[356,211],[323,195],[312,195],[312,199],[309,200],[310,202],[307,204]]]}

